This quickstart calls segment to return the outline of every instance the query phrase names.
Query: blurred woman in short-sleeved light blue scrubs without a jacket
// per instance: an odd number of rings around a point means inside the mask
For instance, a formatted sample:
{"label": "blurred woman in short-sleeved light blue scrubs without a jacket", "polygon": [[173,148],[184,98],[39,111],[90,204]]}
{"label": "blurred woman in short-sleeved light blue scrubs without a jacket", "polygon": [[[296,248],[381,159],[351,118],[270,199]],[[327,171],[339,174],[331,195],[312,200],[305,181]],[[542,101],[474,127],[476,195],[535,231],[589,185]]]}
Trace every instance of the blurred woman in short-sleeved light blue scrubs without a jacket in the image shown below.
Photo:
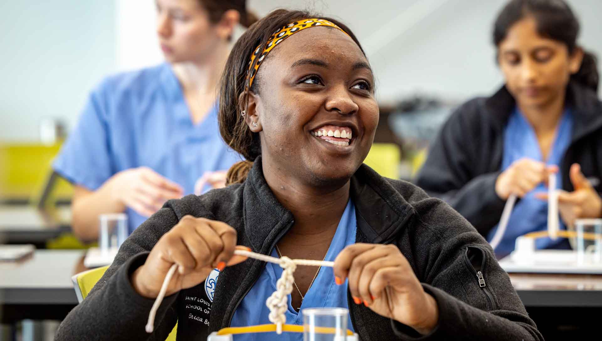
{"label": "blurred woman in short-sleeved light blue scrubs without a jacket", "polygon": [[74,185],[73,232],[125,211],[132,232],[168,199],[223,186],[240,156],[220,136],[217,83],[233,30],[256,18],[244,0],[156,0],[166,62],[107,77],[54,161]]}

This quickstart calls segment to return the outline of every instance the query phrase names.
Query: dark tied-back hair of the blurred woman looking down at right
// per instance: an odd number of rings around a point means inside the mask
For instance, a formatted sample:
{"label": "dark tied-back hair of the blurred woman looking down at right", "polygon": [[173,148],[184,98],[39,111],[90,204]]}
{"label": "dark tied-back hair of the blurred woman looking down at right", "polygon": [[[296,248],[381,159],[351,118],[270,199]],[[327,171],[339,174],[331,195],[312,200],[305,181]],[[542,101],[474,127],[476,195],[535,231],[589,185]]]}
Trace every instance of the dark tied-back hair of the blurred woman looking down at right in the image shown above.
{"label": "dark tied-back hair of the blurred woman looking down at right", "polygon": [[[506,38],[512,25],[528,16],[535,18],[539,35],[564,43],[569,53],[575,51],[579,36],[579,20],[564,0],[510,1],[495,20],[493,31],[495,46]],[[584,51],[581,67],[576,74],[571,75],[571,80],[598,91],[600,74],[597,58],[593,53]]]}

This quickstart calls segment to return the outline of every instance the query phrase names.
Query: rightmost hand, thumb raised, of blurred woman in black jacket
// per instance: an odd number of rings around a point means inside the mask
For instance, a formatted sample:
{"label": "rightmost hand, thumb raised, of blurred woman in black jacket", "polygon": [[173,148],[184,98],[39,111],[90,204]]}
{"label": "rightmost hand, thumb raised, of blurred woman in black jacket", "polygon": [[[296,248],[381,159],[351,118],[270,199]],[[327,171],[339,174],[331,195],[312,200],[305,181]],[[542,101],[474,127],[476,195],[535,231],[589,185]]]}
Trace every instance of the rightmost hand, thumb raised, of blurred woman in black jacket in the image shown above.
{"label": "rightmost hand, thumb raised, of blurred woman in black jacket", "polygon": [[[572,228],[577,219],[600,218],[602,199],[581,172],[579,164],[574,163],[571,166],[569,178],[575,190],[573,192],[560,190],[558,193],[558,210],[562,221]],[[537,198],[547,200],[548,195],[540,193]]]}

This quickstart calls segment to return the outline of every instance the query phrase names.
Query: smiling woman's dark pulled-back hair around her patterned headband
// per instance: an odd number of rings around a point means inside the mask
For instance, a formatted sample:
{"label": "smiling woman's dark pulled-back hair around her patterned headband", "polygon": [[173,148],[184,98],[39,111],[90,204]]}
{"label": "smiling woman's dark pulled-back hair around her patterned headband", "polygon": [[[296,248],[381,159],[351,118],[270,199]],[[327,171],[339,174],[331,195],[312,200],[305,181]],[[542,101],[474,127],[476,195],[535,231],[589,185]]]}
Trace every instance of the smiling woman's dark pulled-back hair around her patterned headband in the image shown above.
{"label": "smiling woman's dark pulled-back hair around her patterned headband", "polygon": [[[364,53],[358,39],[346,25],[338,20],[323,17],[315,13],[308,13],[307,11],[272,11],[251,25],[238,39],[236,44],[234,44],[220,81],[220,103],[217,120],[219,121],[220,133],[223,139],[232,149],[243,155],[247,161],[234,164],[229,169],[226,184],[243,182],[246,179],[252,162],[261,154],[259,134],[250,131],[244,117],[241,116],[241,111],[245,108],[238,101],[240,94],[246,91],[245,80],[247,71],[249,70],[251,53],[259,44],[262,44],[262,46],[266,44],[270,35],[285,25],[296,20],[316,17],[329,20],[338,25],[343,31],[349,34],[353,41],[358,44],[362,53]],[[261,87],[260,77],[261,73],[258,73],[253,81],[252,90],[256,93],[258,93]]]}

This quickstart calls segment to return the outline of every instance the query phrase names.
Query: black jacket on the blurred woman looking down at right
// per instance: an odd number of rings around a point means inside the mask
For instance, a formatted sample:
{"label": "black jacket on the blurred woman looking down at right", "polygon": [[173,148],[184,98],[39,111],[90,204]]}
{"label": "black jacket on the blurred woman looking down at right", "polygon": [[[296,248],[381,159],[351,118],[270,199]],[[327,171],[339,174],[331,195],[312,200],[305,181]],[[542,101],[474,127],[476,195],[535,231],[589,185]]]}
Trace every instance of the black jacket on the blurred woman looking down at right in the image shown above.
{"label": "black jacket on the blurred woman looking down at right", "polygon": [[[566,103],[573,110],[571,142],[562,157],[562,188],[573,191],[569,167],[579,163],[602,192],[602,103],[597,94],[570,82]],[[504,149],[504,128],[515,101],[505,87],[476,98],[450,116],[429,151],[417,184],[452,205],[482,235],[500,221],[505,202],[495,193]]]}

